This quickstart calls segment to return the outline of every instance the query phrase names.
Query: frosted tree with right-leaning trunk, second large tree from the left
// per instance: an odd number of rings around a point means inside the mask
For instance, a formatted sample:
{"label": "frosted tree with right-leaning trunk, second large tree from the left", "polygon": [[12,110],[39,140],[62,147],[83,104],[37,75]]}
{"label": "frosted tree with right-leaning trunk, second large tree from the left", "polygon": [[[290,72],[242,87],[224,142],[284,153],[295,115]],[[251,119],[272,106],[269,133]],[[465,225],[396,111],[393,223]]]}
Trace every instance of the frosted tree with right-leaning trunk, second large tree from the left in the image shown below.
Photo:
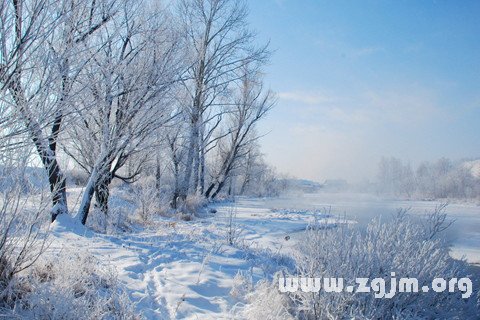
{"label": "frosted tree with right-leaning trunk, second large tree from the left", "polygon": [[139,174],[141,161],[130,175],[120,170],[154,144],[153,133],[174,115],[170,91],[179,63],[167,23],[145,3],[125,1],[93,40],[90,62],[79,76],[84,89],[75,105],[72,143],[65,148],[89,173],[77,213],[82,223],[94,193],[106,212],[112,179],[128,181]]}

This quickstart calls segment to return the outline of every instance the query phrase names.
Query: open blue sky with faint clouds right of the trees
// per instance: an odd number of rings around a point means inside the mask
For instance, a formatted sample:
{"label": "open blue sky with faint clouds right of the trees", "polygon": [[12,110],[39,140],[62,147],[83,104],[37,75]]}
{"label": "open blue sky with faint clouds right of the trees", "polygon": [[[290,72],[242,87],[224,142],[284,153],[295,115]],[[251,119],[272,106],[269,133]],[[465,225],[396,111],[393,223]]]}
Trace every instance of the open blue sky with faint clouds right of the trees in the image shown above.
{"label": "open blue sky with faint clouds right of the trees", "polygon": [[267,160],[322,181],[480,157],[480,1],[248,0],[275,50]]}

